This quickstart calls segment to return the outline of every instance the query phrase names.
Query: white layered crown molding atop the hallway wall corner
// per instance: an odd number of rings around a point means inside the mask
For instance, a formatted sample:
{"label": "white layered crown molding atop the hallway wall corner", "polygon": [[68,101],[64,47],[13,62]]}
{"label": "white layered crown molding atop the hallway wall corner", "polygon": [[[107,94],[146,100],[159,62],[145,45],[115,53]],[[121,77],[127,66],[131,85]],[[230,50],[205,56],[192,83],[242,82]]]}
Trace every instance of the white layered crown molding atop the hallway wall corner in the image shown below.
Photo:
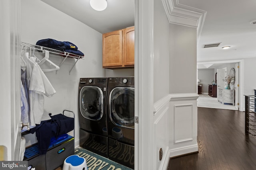
{"label": "white layered crown molding atop the hallway wall corner", "polygon": [[206,11],[182,5],[178,0],[162,0],[162,3],[170,23],[197,28],[199,39]]}

